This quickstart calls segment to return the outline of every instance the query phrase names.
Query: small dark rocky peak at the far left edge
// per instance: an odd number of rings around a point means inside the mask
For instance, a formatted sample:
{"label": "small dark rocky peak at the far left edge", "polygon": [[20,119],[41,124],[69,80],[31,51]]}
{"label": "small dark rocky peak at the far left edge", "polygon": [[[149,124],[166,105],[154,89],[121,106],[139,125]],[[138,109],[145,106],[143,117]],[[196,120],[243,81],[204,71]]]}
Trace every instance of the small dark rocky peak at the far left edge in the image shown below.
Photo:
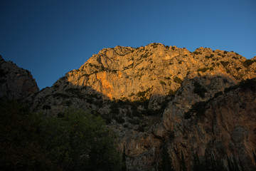
{"label": "small dark rocky peak at the far left edge", "polygon": [[0,97],[21,99],[38,93],[39,89],[31,73],[19,68],[0,56]]}

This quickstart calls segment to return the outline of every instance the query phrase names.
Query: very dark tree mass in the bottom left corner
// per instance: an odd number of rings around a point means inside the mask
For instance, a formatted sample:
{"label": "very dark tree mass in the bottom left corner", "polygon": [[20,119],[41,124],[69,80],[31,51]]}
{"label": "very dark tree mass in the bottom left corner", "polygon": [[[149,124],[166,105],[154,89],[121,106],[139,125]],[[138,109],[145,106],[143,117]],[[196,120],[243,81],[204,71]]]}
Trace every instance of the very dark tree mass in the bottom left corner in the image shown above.
{"label": "very dark tree mass in the bottom left corner", "polygon": [[16,100],[0,99],[0,170],[53,170],[38,134],[42,121]]}

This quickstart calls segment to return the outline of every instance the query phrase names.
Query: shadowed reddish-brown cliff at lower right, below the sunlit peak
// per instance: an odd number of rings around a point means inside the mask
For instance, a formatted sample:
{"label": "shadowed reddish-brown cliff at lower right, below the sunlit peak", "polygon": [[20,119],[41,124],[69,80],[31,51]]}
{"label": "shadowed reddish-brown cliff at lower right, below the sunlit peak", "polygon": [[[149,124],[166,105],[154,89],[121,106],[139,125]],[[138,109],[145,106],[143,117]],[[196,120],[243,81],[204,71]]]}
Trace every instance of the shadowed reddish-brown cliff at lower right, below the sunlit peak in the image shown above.
{"label": "shadowed reddish-brown cliff at lower right, below the sunlit peak", "polygon": [[193,152],[198,152],[201,158],[221,158],[225,165],[226,155],[235,156],[245,170],[255,170],[252,150],[256,148],[256,80],[249,81],[249,86],[226,88],[225,93],[220,91],[202,101],[196,100],[197,95],[190,96],[193,83],[194,79],[183,82],[183,89],[178,90],[181,95],[176,94],[154,126],[142,133],[124,133],[122,143],[130,155],[129,170],[158,170],[163,144],[176,170],[181,165],[181,152],[188,168]]}

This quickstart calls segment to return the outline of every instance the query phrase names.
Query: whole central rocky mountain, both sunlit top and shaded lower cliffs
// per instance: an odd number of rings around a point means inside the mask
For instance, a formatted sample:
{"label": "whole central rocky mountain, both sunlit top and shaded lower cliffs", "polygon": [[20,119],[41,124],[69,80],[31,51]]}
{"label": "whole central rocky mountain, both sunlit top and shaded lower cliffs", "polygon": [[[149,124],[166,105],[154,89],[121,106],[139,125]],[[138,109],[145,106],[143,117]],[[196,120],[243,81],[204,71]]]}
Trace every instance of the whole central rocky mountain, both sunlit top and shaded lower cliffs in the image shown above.
{"label": "whole central rocky mountain, both sunlit top and shaded lower cliffs", "polygon": [[253,170],[255,89],[238,84],[255,76],[255,59],[234,52],[117,46],[26,102],[46,115],[61,116],[70,107],[101,115],[117,133],[119,150],[126,147],[128,170],[159,170],[162,145],[176,170],[181,150],[189,169],[197,151],[225,161],[239,157]]}

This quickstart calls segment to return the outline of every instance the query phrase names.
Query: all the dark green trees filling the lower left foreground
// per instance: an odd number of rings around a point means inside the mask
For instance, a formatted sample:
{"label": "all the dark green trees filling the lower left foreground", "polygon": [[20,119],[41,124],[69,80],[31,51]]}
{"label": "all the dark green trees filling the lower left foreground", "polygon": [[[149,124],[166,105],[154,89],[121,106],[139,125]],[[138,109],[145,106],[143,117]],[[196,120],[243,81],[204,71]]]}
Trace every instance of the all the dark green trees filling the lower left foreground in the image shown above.
{"label": "all the dark green trees filling the lower left foreground", "polygon": [[0,170],[120,170],[114,135],[104,120],[81,110],[61,118],[0,103]]}

